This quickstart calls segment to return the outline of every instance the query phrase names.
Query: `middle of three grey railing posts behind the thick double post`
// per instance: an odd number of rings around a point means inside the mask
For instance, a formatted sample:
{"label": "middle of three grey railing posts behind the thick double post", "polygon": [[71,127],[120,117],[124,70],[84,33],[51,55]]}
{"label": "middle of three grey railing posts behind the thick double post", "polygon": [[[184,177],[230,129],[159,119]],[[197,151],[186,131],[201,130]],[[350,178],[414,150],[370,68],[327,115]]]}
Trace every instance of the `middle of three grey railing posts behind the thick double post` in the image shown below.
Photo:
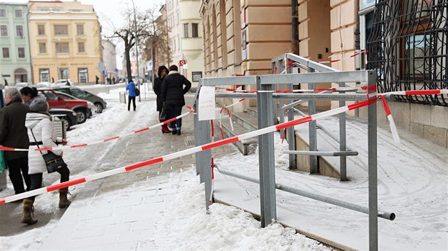
{"label": "middle of three grey railing posts behind the thick double post", "polygon": [[[309,67],[308,72],[315,72],[315,70]],[[314,89],[314,83],[308,83],[308,89]],[[316,101],[308,101],[308,115],[311,116],[316,113]],[[309,150],[317,151],[317,128],[316,121],[309,122]],[[317,156],[309,156],[309,173],[318,174],[319,173],[319,162],[317,161]]]}

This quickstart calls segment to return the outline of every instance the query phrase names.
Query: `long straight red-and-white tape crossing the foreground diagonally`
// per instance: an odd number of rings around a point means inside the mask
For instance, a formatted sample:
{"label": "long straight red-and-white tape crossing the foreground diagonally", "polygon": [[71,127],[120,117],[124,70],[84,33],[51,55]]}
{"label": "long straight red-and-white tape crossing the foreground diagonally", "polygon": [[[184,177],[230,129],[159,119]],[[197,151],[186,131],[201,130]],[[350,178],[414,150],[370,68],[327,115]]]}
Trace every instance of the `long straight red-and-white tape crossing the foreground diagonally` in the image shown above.
{"label": "long straight red-and-white tape crossing the foreground diagonally", "polygon": [[100,172],[98,174],[92,174],[92,175],[89,175],[87,177],[82,177],[80,179],[74,179],[74,180],[71,180],[71,181],[68,181],[68,182],[63,182],[63,183],[60,183],[60,184],[46,186],[46,187],[42,187],[40,189],[36,189],[36,190],[32,190],[32,191],[26,191],[25,193],[22,193],[22,194],[16,194],[16,195],[13,195],[13,196],[9,196],[9,197],[0,199],[0,204],[9,203],[11,201],[17,201],[19,199],[25,199],[25,198],[28,198],[30,196],[36,196],[36,195],[39,195],[39,194],[45,194],[45,193],[48,193],[50,191],[63,189],[63,188],[68,187],[68,186],[74,186],[74,185],[82,184],[82,183],[85,183],[85,182],[91,182],[91,181],[93,181],[95,179],[102,179],[102,178],[105,178],[105,177],[110,177],[110,176],[112,176],[114,174],[121,174],[121,173],[124,173],[124,172],[129,172],[129,171],[132,171],[134,169],[138,169],[138,168],[141,168],[141,167],[149,166],[151,164],[164,162],[166,160],[173,160],[173,159],[176,159],[178,157],[191,155],[193,153],[201,152],[203,150],[208,150],[208,149],[211,149],[211,148],[214,148],[214,147],[219,147],[221,145],[228,145],[230,143],[234,143],[234,142],[237,142],[239,140],[245,140],[247,138],[257,137],[259,135],[263,135],[263,134],[266,134],[266,133],[274,133],[277,130],[282,130],[284,128],[288,128],[288,127],[291,127],[291,126],[294,126],[294,125],[299,125],[299,124],[302,124],[302,123],[308,123],[309,121],[315,121],[316,119],[319,119],[319,118],[326,118],[326,117],[329,117],[329,116],[334,116],[334,115],[336,115],[338,113],[344,113],[346,111],[351,111],[351,110],[354,110],[354,109],[357,109],[357,108],[361,108],[363,106],[368,106],[370,104],[373,104],[373,102],[375,102],[377,99],[378,99],[378,97],[375,97],[375,98],[369,99],[367,101],[361,101],[361,102],[358,102],[356,104],[350,104],[348,106],[334,108],[332,110],[324,111],[324,112],[321,112],[321,113],[316,113],[316,114],[313,114],[311,116],[306,116],[304,118],[297,118],[297,119],[294,119],[293,121],[280,123],[278,125],[272,125],[272,126],[267,127],[267,128],[253,130],[253,131],[251,131],[249,133],[243,133],[241,135],[233,136],[231,138],[226,138],[226,139],[218,140],[218,141],[215,141],[215,142],[212,142],[212,143],[199,145],[197,147],[188,148],[186,150],[181,150],[179,152],[174,152],[174,153],[171,153],[169,155],[164,155],[164,156],[161,156],[161,157],[155,157],[155,158],[153,158],[151,160],[145,160],[143,162],[130,164],[130,165],[127,165],[125,167],[118,167],[116,169],[112,169],[112,170],[109,170],[109,171],[106,171],[106,172]]}

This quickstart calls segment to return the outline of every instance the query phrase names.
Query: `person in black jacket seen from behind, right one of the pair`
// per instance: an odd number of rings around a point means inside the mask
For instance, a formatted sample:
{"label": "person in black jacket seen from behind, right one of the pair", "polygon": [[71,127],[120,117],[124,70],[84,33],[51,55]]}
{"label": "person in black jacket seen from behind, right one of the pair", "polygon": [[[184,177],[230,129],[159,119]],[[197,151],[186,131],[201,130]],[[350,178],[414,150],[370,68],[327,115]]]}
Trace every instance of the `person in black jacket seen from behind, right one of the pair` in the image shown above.
{"label": "person in black jacket seen from behind, right one of the pair", "polygon": [[[185,86],[185,87],[184,87]],[[176,65],[169,67],[169,74],[162,82],[161,96],[168,111],[168,119],[181,115],[182,106],[185,106],[183,95],[191,88],[191,82],[183,77]],[[170,123],[173,134],[181,135],[182,118]],[[176,128],[176,130],[174,130]]]}

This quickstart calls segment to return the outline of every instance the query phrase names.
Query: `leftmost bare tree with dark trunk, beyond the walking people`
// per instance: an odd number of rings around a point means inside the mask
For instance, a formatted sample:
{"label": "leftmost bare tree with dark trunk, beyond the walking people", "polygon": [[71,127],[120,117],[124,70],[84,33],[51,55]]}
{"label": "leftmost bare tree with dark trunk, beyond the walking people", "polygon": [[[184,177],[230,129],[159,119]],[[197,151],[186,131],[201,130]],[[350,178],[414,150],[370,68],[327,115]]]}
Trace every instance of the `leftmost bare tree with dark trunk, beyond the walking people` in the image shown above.
{"label": "leftmost bare tree with dark trunk, beyond the walking people", "polygon": [[[114,28],[113,35],[109,38],[120,38],[124,42],[124,57],[126,57],[126,72],[127,81],[132,80],[131,71],[131,50],[134,47],[137,40],[144,41],[146,38],[152,35],[151,27],[153,24],[152,18],[149,15],[149,11],[138,11],[136,10],[137,23],[134,22],[134,10],[125,9],[122,12],[123,18],[126,20],[122,28]],[[138,59],[137,59],[138,60]]]}

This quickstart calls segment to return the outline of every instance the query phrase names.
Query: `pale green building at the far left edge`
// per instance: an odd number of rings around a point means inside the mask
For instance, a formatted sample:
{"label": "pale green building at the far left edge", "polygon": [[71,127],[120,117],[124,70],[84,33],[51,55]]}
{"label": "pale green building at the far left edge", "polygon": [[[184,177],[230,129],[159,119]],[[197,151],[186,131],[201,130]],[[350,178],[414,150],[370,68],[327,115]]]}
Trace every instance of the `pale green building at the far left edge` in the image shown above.
{"label": "pale green building at the far left edge", "polygon": [[33,82],[27,18],[27,4],[0,3],[1,84]]}

